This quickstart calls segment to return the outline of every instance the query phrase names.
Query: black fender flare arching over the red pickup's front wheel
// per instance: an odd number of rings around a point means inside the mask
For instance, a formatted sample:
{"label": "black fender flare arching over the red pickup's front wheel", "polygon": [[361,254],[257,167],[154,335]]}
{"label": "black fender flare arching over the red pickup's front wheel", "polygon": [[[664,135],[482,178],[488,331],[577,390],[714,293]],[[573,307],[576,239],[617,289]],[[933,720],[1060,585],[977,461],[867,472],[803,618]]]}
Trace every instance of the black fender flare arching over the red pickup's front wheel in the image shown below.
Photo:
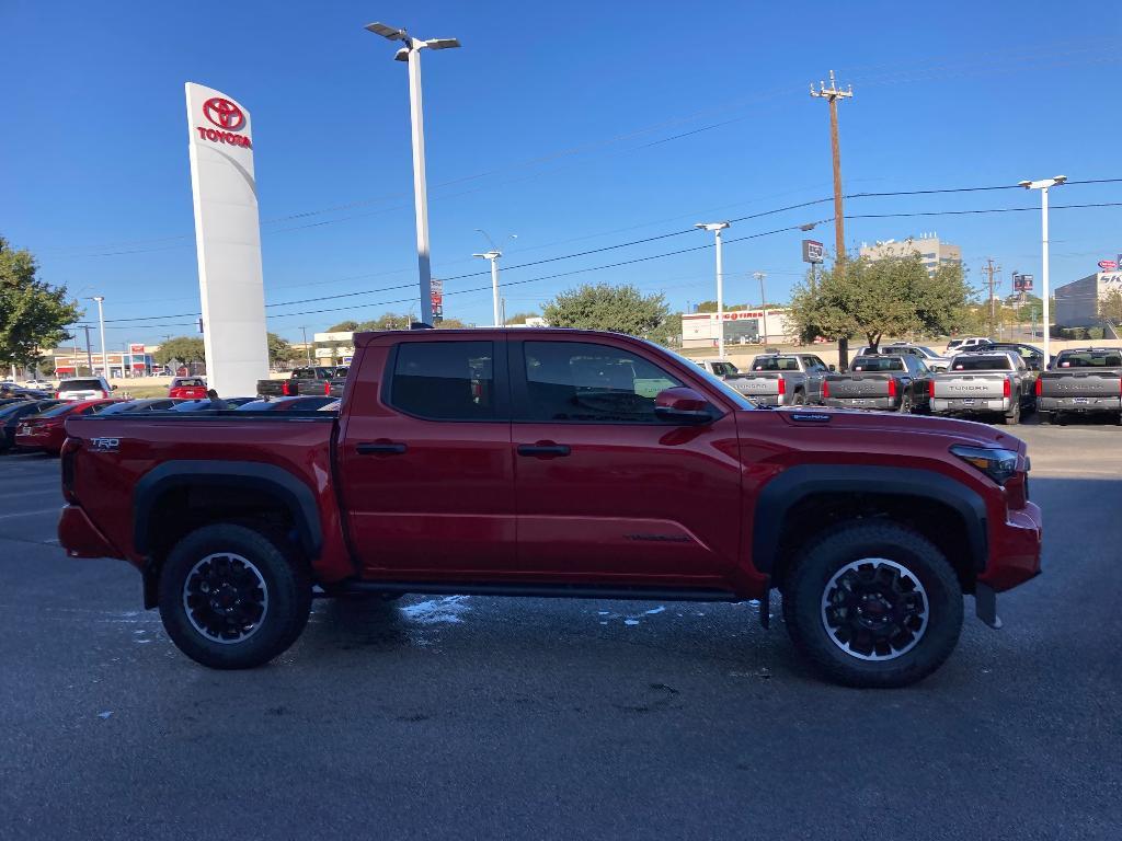
{"label": "black fender flare arching over the red pickup's front wheel", "polygon": [[954,510],[966,526],[974,569],[988,557],[985,500],[972,488],[922,468],[862,464],[801,464],[767,482],[756,498],[752,563],[771,574],[782,538],[783,518],[800,500],[818,493],[876,493],[929,499]]}

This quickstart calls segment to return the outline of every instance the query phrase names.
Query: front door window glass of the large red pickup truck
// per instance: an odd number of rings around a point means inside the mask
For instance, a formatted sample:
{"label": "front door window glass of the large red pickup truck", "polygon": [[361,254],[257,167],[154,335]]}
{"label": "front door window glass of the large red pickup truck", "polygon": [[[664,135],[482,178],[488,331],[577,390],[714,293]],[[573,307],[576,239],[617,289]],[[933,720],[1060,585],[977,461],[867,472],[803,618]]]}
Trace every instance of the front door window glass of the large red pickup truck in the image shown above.
{"label": "front door window glass of the large red pickup truck", "polygon": [[525,420],[659,423],[660,391],[682,382],[643,357],[587,342],[525,342]]}

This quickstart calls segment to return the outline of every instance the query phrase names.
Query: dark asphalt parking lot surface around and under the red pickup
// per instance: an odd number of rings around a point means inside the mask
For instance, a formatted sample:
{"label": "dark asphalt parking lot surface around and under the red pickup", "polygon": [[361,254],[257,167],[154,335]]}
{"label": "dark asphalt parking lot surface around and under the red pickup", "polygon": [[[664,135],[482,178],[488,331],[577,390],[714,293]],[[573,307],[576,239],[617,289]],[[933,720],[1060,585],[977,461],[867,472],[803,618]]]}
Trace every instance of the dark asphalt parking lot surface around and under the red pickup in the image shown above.
{"label": "dark asphalt parking lot surface around and under the red pickup", "polygon": [[1118,838],[1122,429],[1011,432],[1045,575],[885,692],[747,604],[321,601],[211,672],[63,555],[58,462],[2,456],[0,838]]}

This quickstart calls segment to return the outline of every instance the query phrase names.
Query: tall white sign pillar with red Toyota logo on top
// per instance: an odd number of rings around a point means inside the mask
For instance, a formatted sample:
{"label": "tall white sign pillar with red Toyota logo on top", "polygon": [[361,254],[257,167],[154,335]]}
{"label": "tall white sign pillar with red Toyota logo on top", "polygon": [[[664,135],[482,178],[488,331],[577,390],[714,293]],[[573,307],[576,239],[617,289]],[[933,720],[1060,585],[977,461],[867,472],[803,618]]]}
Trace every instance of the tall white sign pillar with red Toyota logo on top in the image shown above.
{"label": "tall white sign pillar with red Toyota logo on top", "polygon": [[186,94],[206,381],[221,397],[254,395],[269,354],[252,122],[220,91],[187,82]]}

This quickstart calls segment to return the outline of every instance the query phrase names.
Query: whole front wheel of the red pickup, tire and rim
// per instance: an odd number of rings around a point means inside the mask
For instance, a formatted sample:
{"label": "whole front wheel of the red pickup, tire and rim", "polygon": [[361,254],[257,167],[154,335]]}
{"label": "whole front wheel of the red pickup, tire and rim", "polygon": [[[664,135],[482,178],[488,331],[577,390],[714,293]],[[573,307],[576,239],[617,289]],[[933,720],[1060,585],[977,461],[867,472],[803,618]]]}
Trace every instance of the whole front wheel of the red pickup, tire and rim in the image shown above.
{"label": "whole front wheel of the red pickup, tire and rim", "polygon": [[947,558],[922,535],[856,520],[799,553],[783,585],[783,618],[795,647],[827,677],[907,686],[955,649],[963,594]]}

